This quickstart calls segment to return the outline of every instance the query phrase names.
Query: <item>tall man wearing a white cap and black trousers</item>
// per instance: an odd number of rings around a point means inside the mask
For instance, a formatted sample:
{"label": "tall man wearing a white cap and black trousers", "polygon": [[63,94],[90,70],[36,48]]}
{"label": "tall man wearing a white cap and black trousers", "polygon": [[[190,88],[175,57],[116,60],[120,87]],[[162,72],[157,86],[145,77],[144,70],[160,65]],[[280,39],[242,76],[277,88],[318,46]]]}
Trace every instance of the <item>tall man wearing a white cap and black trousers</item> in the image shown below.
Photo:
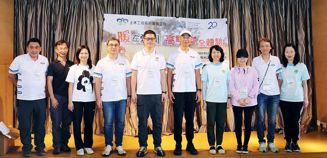
{"label": "tall man wearing a white cap and black trousers", "polygon": [[193,121],[196,103],[201,99],[200,68],[202,68],[202,62],[198,52],[189,47],[192,41],[190,31],[181,31],[180,41],[181,46],[169,54],[167,61],[168,98],[173,103],[174,110],[174,139],[176,141],[174,154],[181,155],[182,121],[185,113],[186,151],[196,155],[198,151],[193,145]]}

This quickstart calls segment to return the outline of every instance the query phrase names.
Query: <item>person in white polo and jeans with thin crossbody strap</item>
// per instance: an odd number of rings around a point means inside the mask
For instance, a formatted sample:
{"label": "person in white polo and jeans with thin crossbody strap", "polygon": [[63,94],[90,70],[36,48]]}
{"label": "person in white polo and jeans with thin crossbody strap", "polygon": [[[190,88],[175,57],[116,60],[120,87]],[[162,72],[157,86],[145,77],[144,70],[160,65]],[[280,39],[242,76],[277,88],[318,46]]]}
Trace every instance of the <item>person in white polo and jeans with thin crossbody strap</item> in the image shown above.
{"label": "person in white polo and jeans with thin crossbody strap", "polygon": [[267,134],[267,149],[272,152],[278,152],[274,145],[275,128],[276,128],[276,115],[279,106],[279,86],[278,86],[278,73],[282,72],[282,65],[277,56],[270,55],[273,50],[271,41],[268,38],[260,38],[257,43],[257,50],[261,55],[255,57],[252,61],[259,76],[259,94],[258,106],[256,108],[256,126],[257,135],[259,139],[259,151],[267,152],[265,138],[264,119],[266,113],[266,106],[268,112],[268,134]]}

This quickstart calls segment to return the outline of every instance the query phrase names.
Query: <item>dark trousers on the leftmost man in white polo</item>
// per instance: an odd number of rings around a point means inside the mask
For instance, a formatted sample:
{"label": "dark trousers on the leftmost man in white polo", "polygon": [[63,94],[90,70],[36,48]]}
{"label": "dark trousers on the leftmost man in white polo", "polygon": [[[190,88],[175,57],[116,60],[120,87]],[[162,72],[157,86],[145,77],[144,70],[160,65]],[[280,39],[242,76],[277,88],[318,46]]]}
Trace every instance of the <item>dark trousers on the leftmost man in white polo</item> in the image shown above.
{"label": "dark trousers on the leftmost man in white polo", "polygon": [[19,121],[19,135],[23,144],[23,151],[33,149],[31,138],[31,125],[33,113],[33,133],[36,151],[42,151],[45,148],[45,119],[46,119],[46,98],[38,100],[20,100],[17,99],[17,112]]}

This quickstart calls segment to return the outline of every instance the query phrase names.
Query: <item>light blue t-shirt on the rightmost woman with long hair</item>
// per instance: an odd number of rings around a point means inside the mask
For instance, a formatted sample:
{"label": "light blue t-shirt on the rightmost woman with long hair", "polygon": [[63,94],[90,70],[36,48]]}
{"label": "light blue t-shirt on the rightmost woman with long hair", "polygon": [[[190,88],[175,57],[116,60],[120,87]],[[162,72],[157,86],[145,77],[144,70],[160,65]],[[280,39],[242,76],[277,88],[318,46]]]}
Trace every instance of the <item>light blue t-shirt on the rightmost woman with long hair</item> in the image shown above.
{"label": "light blue t-shirt on the rightmost woman with long hair", "polygon": [[295,66],[294,64],[287,64],[287,67],[282,66],[282,69],[283,71],[278,75],[278,79],[283,80],[280,100],[303,102],[304,91],[302,81],[310,79],[306,65],[303,63],[298,63]]}

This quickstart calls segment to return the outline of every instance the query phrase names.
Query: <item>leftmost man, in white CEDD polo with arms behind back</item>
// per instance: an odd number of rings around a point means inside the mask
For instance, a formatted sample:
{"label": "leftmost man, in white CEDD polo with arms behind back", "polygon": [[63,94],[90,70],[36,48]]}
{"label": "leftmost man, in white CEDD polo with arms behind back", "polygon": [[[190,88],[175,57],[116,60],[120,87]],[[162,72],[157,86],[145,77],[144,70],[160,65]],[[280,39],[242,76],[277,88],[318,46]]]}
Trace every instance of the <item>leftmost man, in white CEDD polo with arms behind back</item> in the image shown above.
{"label": "leftmost man, in white CEDD polo with arms behind back", "polygon": [[40,52],[41,41],[31,38],[27,41],[27,54],[17,56],[9,66],[8,77],[17,87],[18,129],[23,144],[23,157],[31,156],[33,148],[30,132],[32,113],[35,150],[38,155],[45,155],[45,78],[49,62]]}

